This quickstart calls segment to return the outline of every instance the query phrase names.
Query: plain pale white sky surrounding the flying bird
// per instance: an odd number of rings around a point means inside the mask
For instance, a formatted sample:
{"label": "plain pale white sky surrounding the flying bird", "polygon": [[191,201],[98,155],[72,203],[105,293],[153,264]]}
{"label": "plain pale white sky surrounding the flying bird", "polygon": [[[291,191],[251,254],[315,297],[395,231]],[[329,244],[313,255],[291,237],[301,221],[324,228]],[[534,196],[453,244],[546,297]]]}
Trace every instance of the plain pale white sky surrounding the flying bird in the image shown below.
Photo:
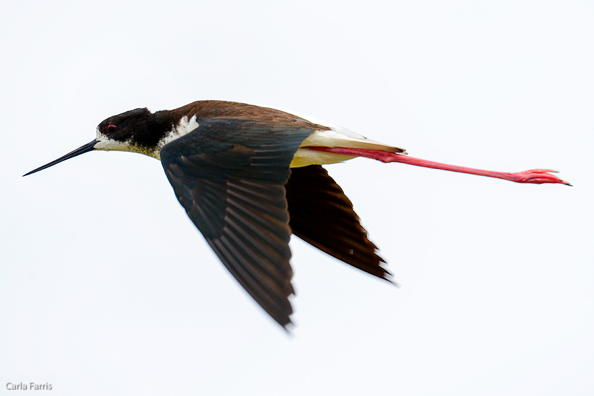
{"label": "plain pale white sky surrounding the flying bird", "polygon": [[[594,2],[2,0],[0,32],[0,395],[594,394]],[[21,178],[204,99],[574,187],[328,166],[402,286],[293,239],[287,335],[158,161]]]}

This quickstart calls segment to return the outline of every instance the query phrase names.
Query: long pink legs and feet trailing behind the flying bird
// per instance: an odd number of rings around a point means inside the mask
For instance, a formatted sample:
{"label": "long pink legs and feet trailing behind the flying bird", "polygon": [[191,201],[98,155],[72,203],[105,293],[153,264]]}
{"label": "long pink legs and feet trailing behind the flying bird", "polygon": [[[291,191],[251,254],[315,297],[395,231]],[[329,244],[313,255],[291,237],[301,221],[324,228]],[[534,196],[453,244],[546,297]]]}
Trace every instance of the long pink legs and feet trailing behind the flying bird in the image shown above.
{"label": "long pink legs and feet trailing behind the flying bird", "polygon": [[492,170],[473,169],[463,166],[442,164],[433,161],[421,160],[414,157],[405,156],[403,154],[388,153],[382,150],[367,150],[365,148],[347,148],[347,147],[318,147],[309,146],[301,147],[309,150],[326,151],[327,153],[345,154],[346,156],[367,157],[382,162],[402,162],[405,164],[423,166],[433,169],[451,170],[452,172],[470,173],[471,175],[487,176],[488,178],[498,178],[511,180],[517,183],[561,183],[571,186],[570,183],[564,182],[555,175],[549,172],[557,172],[551,169],[531,169],[524,172],[507,173],[494,172]]}

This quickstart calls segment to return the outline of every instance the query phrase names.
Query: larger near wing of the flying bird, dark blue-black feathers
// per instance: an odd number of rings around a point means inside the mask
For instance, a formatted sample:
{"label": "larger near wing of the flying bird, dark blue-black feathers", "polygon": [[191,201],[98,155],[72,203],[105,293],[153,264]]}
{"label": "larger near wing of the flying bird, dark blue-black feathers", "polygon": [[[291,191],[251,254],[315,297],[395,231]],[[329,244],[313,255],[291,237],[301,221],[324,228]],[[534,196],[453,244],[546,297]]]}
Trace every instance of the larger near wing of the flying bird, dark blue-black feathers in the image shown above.
{"label": "larger near wing of the flying bird, dark blue-black feathers", "polygon": [[225,267],[280,325],[290,323],[289,165],[312,129],[201,119],[161,150],[189,218]]}

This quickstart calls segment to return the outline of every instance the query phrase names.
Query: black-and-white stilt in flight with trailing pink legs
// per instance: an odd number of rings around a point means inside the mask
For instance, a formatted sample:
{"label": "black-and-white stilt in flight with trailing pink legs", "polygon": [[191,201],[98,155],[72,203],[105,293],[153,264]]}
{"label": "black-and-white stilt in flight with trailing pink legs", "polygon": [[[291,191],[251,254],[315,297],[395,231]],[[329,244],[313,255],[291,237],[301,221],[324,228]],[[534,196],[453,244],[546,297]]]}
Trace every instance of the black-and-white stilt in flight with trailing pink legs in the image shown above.
{"label": "black-and-white stilt in flight with trailing pink legs", "polygon": [[210,248],[285,330],[293,312],[292,234],[392,281],[352,202],[322,165],[367,157],[519,183],[570,185],[551,169],[506,173],[416,159],[402,148],[299,113],[221,100],[111,116],[99,123],[93,141],[23,176],[94,150],[160,160],[176,198]]}

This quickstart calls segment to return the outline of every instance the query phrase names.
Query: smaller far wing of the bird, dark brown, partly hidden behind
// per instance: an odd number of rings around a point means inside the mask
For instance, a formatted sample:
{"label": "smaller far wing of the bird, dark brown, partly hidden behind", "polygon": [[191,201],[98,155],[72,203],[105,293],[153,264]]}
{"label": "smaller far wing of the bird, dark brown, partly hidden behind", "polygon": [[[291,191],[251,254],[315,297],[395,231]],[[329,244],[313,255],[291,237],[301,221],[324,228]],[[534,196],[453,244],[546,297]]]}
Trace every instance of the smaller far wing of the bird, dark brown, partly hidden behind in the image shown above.
{"label": "smaller far wing of the bird, dark brown, partly hidden behind", "polygon": [[285,186],[293,234],[359,270],[389,280],[353,204],[320,165],[292,168]]}

